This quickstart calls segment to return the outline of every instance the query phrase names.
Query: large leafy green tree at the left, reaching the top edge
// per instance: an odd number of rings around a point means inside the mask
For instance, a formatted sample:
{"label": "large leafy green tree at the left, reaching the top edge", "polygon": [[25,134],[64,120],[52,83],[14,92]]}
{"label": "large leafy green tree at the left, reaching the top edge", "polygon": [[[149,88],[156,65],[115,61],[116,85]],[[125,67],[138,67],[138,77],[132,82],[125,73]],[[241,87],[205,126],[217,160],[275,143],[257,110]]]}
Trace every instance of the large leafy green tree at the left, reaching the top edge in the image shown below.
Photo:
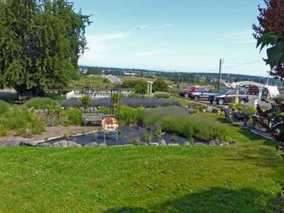
{"label": "large leafy green tree at the left, reaching the top edge", "polygon": [[1,86],[36,96],[67,85],[77,75],[89,24],[66,0],[0,0]]}

